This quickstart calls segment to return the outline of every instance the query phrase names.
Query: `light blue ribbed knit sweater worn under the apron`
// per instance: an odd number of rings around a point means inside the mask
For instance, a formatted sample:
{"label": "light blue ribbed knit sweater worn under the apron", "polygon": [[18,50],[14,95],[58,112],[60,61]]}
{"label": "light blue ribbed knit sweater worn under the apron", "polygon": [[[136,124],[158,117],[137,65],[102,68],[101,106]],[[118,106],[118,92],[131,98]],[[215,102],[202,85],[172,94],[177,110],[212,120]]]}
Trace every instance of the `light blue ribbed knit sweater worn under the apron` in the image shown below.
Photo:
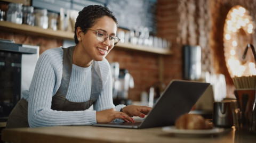
{"label": "light blue ribbed knit sweater worn under the apron", "polygon": [[[61,47],[45,51],[38,59],[34,76],[28,90],[22,92],[28,101],[28,122],[30,127],[54,125],[92,125],[97,123],[96,111],[115,108],[119,111],[124,105],[114,106],[112,98],[112,79],[106,59],[98,62],[103,81],[103,90],[94,103],[95,111],[53,111],[52,97],[60,87],[63,69],[63,50]],[[72,73],[66,98],[70,102],[86,102],[91,96],[92,66],[82,68],[72,66]]]}

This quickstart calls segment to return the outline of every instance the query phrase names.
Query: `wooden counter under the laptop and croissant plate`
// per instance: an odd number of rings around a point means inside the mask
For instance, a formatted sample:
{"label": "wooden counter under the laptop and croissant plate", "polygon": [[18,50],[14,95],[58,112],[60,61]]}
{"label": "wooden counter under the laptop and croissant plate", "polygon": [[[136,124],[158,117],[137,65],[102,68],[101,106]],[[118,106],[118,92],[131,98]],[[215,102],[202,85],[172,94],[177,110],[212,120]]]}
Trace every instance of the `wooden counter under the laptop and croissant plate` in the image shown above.
{"label": "wooden counter under the laptop and croissant plate", "polygon": [[220,136],[209,137],[175,137],[162,128],[119,129],[92,126],[43,127],[4,129],[2,140],[6,142],[255,142],[255,134],[237,132],[231,129]]}

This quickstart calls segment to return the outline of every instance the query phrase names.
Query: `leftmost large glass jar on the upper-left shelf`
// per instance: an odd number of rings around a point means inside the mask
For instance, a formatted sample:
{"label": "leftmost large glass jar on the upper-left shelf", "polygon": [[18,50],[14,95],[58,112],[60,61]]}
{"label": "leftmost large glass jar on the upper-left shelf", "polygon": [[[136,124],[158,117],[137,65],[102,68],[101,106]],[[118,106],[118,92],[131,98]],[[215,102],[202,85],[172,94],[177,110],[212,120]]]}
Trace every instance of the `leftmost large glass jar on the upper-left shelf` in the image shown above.
{"label": "leftmost large glass jar on the upper-left shelf", "polygon": [[22,4],[9,3],[7,11],[7,20],[13,23],[22,23]]}

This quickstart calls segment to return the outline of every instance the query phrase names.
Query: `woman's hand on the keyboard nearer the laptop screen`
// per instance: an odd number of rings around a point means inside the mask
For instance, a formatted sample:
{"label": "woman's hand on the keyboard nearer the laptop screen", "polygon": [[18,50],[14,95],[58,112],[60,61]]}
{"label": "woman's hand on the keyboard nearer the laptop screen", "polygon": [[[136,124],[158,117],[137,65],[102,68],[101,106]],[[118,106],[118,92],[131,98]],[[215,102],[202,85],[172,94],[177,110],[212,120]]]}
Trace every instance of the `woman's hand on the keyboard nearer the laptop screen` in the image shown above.
{"label": "woman's hand on the keyboard nearer the laptop screen", "polygon": [[128,105],[123,107],[123,112],[128,116],[139,116],[143,118],[151,109],[151,107],[147,106]]}

